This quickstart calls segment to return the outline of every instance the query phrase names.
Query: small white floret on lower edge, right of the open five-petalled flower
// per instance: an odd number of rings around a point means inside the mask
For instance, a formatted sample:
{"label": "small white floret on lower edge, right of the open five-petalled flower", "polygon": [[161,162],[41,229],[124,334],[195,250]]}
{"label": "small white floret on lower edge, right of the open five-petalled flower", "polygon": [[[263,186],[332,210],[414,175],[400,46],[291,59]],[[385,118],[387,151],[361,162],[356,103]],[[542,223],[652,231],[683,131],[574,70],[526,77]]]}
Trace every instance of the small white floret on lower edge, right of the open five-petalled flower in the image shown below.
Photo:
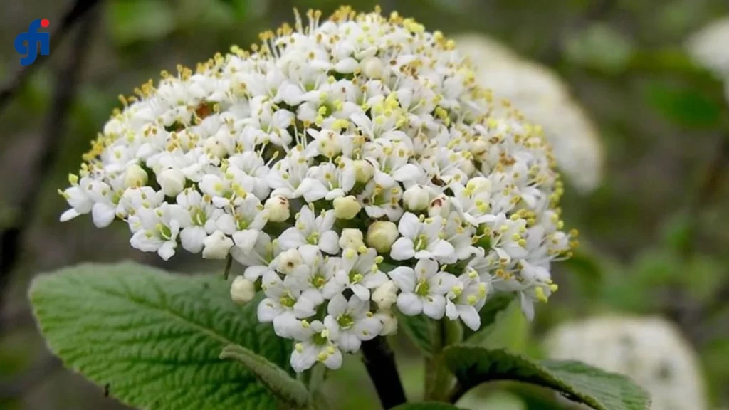
{"label": "small white floret on lower edge, right of the open five-petalled flower", "polygon": [[471,330],[476,331],[481,326],[478,311],[486,302],[486,283],[480,281],[476,271],[462,274],[458,279],[461,283],[451,289],[445,301],[445,315],[450,320],[460,317]]}

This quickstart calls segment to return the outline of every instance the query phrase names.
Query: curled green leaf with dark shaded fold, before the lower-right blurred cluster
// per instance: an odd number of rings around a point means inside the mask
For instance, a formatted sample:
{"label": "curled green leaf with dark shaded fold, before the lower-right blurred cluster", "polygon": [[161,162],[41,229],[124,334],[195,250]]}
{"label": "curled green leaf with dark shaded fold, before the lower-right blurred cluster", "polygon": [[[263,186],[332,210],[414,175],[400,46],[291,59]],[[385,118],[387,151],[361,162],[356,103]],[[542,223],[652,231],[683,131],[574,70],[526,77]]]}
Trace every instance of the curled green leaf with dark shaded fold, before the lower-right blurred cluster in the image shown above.
{"label": "curled green leaf with dark shaded fold, before the lower-right blurred cluster", "polygon": [[597,410],[646,410],[650,398],[625,376],[574,361],[534,362],[505,350],[453,345],[443,352],[448,367],[466,388],[515,380],[560,392]]}

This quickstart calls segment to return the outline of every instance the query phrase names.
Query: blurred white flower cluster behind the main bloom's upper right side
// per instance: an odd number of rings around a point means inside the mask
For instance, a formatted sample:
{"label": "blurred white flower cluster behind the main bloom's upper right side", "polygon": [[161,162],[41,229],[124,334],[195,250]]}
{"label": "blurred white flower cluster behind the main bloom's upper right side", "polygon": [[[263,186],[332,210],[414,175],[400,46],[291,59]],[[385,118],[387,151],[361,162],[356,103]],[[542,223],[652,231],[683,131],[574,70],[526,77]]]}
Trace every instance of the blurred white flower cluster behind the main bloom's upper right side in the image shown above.
{"label": "blurred white flower cluster behind the main bloom's upper right side", "polygon": [[466,34],[456,42],[478,67],[476,80],[482,87],[542,125],[559,168],[574,187],[583,193],[595,190],[605,162],[601,137],[564,80],[483,34]]}

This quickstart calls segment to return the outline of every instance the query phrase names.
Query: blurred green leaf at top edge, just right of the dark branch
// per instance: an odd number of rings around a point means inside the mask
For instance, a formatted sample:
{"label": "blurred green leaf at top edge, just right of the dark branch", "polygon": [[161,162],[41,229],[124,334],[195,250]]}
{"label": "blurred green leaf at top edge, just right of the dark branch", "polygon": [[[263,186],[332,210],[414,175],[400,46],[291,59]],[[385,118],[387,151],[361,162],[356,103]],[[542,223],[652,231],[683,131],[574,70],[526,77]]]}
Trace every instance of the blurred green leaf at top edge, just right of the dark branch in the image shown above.
{"label": "blurred green leaf at top edge, just right of the dark branch", "polygon": [[161,39],[174,30],[174,12],[165,1],[116,0],[109,6],[112,38],[119,45]]}

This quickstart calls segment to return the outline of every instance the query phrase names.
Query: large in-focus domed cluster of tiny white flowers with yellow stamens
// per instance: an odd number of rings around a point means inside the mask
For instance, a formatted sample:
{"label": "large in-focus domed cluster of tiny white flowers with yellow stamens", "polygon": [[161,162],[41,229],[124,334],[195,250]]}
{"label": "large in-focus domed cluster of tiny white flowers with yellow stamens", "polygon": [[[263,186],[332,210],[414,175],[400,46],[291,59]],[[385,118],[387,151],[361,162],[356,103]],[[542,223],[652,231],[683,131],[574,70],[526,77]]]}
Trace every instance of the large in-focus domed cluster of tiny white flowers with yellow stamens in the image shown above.
{"label": "large in-focus domed cluster of tiny white flowers with yellow stamens", "polygon": [[533,315],[576,245],[539,128],[440,32],[320,18],[122,98],[61,220],[116,217],[165,260],[182,245],[246,266],[233,300],[265,294],[259,320],[295,339],[296,371],[394,332],[394,309],[477,329],[487,295],[510,292]]}

